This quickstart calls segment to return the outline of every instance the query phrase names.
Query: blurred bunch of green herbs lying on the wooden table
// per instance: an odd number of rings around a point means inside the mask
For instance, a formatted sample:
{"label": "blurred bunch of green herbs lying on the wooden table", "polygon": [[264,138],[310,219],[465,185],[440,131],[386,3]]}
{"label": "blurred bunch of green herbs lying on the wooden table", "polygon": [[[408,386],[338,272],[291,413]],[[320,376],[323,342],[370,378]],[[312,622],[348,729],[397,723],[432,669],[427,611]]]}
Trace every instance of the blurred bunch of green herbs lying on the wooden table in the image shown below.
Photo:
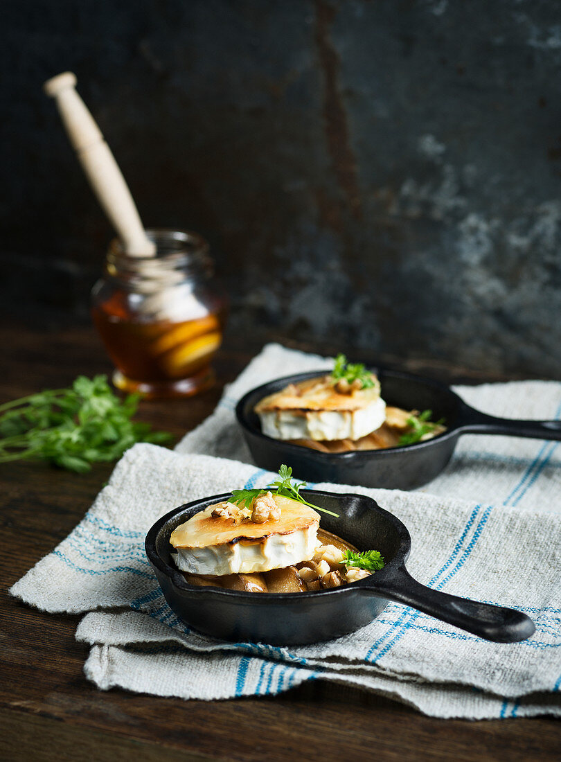
{"label": "blurred bunch of green herbs lying on the wooden table", "polygon": [[70,471],[120,457],[136,442],[164,443],[171,434],[132,421],[138,396],[122,402],[107,376],[79,376],[69,389],[47,389],[0,405],[0,463],[44,459]]}

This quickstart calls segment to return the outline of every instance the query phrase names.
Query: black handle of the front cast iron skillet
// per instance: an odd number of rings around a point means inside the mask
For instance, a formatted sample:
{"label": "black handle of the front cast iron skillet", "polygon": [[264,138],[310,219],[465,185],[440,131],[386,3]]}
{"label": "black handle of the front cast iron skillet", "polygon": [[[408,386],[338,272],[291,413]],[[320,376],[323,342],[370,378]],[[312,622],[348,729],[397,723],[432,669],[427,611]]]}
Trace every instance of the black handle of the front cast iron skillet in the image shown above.
{"label": "black handle of the front cast iron skillet", "polygon": [[[370,584],[369,579],[372,580]],[[521,611],[432,590],[412,578],[403,565],[389,572],[387,578],[384,570],[377,571],[364,580],[363,586],[389,600],[497,643],[526,640],[536,631],[534,622]]]}

